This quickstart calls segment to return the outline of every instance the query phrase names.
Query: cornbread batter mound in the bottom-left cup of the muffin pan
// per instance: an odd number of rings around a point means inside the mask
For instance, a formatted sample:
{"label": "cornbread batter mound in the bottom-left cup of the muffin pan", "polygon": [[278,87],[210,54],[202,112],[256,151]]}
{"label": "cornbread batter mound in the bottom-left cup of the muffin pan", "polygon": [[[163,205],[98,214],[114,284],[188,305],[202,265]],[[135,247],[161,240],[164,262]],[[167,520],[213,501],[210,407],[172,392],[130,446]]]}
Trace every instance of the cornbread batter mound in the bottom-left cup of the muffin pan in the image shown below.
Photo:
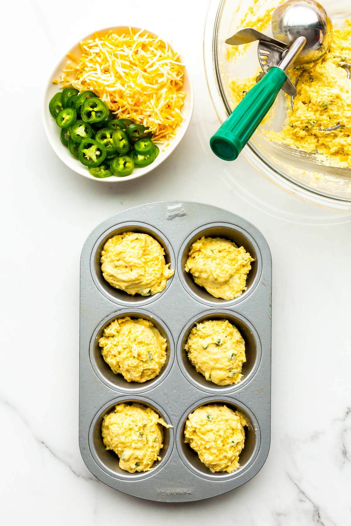
{"label": "cornbread batter mound in the bottom-left cup of the muffin pan", "polygon": [[106,449],[118,455],[119,467],[135,473],[149,471],[156,460],[161,460],[161,426],[172,427],[150,407],[119,403],[112,413],[105,415],[101,431]]}

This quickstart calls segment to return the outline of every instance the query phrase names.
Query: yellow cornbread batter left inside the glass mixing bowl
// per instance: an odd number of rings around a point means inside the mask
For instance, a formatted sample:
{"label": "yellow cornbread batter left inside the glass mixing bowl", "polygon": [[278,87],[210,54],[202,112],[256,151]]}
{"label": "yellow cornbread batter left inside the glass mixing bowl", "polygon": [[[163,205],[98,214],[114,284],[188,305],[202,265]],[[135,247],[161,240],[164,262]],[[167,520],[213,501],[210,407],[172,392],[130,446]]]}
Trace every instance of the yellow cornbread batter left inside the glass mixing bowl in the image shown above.
{"label": "yellow cornbread batter left inside the glass mixing bowl", "polygon": [[[268,137],[308,153],[328,156],[338,166],[351,166],[351,79],[338,64],[351,63],[351,21],[334,29],[329,52],[314,64],[295,67],[292,80],[297,95],[286,124]],[[290,99],[288,99],[290,102]],[[336,130],[325,130],[336,125]]]}

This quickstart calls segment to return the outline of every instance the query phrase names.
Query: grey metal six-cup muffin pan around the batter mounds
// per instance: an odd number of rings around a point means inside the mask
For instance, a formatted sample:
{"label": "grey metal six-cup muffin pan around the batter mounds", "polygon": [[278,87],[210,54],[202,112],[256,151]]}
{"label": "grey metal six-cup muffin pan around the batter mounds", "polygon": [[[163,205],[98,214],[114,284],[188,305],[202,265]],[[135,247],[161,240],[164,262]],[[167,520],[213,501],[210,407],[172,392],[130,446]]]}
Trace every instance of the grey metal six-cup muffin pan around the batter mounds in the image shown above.
{"label": "grey metal six-cup muffin pan around the batter mounds", "polygon": [[[123,231],[153,236],[175,269],[166,288],[154,296],[129,296],[102,276],[100,257],[106,240]],[[189,246],[201,236],[232,239],[255,261],[247,290],[231,301],[216,299],[184,270]],[[215,497],[237,488],[262,468],[270,442],[270,332],[272,261],[266,240],[245,219],[227,210],[189,201],[161,201],[124,210],[99,224],[87,238],[81,257],[79,354],[79,447],[88,469],[102,482],[144,499],[184,502]],[[167,340],[160,374],[145,383],[114,375],[101,356],[98,338],[115,317],[151,319]],[[227,318],[242,333],[247,362],[242,381],[216,386],[190,365],[184,343],[196,321]],[[104,447],[101,423],[123,401],[145,404],[172,424],[163,428],[161,461],[151,471],[129,473]],[[188,414],[206,403],[223,402],[248,421],[240,468],[211,473],[184,442]]]}

